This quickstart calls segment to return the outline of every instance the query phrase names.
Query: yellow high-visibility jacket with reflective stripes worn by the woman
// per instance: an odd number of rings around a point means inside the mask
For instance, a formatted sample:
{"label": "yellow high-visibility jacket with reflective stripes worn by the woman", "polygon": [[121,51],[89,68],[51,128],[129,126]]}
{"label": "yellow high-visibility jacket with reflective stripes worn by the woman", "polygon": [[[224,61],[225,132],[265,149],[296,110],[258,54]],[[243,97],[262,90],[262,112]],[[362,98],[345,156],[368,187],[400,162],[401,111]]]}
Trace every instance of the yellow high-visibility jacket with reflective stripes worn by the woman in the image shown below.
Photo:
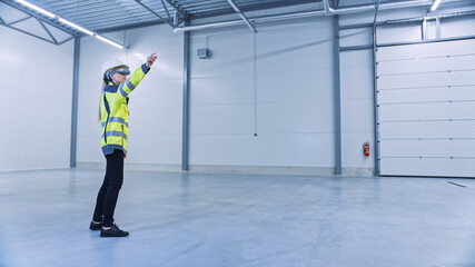
{"label": "yellow high-visibility jacket with reflective stripes worn by the woman", "polygon": [[127,154],[129,139],[129,93],[139,85],[149,69],[142,65],[120,85],[109,82],[102,89],[100,122],[102,126],[101,147],[103,155],[120,149]]}

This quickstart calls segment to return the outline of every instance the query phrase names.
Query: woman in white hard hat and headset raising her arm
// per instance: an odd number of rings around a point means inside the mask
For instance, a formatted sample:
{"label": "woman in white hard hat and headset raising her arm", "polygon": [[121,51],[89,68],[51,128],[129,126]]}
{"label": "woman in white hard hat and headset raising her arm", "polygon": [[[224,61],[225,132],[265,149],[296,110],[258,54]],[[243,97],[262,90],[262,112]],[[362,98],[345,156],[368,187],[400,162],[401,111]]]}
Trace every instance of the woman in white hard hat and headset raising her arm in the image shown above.
{"label": "woman in white hard hat and headset raising her arm", "polygon": [[113,210],[123,181],[123,159],[127,157],[129,136],[129,93],[139,85],[157,56],[147,57],[147,62],[130,75],[129,67],[119,60],[109,60],[102,66],[103,88],[99,117],[102,127],[101,147],[106,156],[106,177],[97,196],[91,230],[100,230],[101,237],[125,237],[129,233],[119,229],[113,221]]}

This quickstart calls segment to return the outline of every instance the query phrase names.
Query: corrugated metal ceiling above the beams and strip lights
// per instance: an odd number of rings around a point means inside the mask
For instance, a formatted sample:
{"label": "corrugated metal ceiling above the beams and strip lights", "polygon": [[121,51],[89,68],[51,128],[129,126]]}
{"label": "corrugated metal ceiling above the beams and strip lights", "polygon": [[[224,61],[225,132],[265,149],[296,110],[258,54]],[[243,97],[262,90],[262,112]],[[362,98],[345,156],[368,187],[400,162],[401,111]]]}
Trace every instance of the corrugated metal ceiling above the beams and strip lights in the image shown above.
{"label": "corrugated metal ceiling above the beams and strip lights", "polygon": [[[137,28],[157,23],[177,27],[185,18],[197,19],[236,13],[228,0],[28,0],[95,32]],[[321,0],[232,0],[243,12],[267,10],[299,4],[299,11],[321,9]],[[329,0],[335,6],[336,0]],[[339,0],[339,7],[373,4],[376,0]],[[404,0],[380,0],[394,3]],[[406,0],[407,1],[407,0]],[[0,0],[9,6],[19,6],[14,0]],[[446,2],[472,2],[473,0],[443,0]],[[313,4],[308,4],[313,3]],[[1,9],[1,7],[0,7]],[[0,10],[1,11],[1,10]],[[1,20],[0,20],[1,22]],[[48,22],[48,21],[47,21]],[[53,21],[55,22],[55,21]],[[56,22],[59,23],[59,22]],[[3,23],[4,24],[4,23]],[[70,32],[80,31],[59,24]]]}

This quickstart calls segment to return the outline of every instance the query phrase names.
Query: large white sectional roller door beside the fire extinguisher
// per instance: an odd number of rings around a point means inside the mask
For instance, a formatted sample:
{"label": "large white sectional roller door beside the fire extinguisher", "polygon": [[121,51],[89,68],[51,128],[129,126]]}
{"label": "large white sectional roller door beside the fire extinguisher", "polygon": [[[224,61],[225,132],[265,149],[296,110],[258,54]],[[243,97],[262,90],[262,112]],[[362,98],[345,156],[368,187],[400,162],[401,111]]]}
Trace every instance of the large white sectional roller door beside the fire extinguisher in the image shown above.
{"label": "large white sectional roller door beside the fire extinguisher", "polygon": [[380,175],[475,177],[475,40],[376,56]]}

